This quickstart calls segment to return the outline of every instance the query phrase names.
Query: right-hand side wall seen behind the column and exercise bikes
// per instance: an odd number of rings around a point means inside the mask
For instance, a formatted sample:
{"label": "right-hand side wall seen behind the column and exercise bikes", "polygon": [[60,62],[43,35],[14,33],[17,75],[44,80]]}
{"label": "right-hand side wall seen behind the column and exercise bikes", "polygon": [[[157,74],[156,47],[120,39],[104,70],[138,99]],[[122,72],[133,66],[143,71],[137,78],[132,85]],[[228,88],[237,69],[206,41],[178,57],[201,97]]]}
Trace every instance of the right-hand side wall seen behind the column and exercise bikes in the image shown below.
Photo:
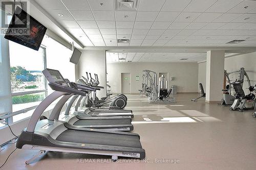
{"label": "right-hand side wall seen behind the column and exercise bikes", "polygon": [[[251,85],[256,84],[256,52],[243,54],[235,57],[225,58],[225,70],[227,72],[239,70],[241,67],[245,68],[249,79],[251,80]],[[198,64],[198,83],[205,82],[206,80],[206,62]],[[230,80],[234,81],[238,78],[238,74],[229,75]],[[246,80],[246,79],[245,79]],[[205,84],[203,84],[205,85]],[[204,86],[205,87],[205,86]],[[248,93],[247,82],[244,84],[244,91]]]}

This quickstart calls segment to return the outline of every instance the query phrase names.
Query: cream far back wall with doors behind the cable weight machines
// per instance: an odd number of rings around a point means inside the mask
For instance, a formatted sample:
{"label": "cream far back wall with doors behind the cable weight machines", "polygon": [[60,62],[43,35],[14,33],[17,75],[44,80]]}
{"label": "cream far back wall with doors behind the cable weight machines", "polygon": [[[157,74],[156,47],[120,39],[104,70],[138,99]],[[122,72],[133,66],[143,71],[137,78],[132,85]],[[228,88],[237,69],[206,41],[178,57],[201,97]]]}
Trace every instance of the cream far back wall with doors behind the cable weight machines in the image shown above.
{"label": "cream far back wall with doors behind the cable weight machines", "polygon": [[[112,93],[121,93],[121,73],[131,73],[131,92],[138,93],[141,89],[142,77],[141,73],[144,69],[150,69],[157,73],[168,72],[169,87],[178,86],[178,92],[197,92],[198,86],[198,64],[197,63],[108,63],[107,64],[107,80],[111,86]],[[136,80],[139,76],[139,81]],[[175,77],[175,81],[170,81],[171,77]]]}

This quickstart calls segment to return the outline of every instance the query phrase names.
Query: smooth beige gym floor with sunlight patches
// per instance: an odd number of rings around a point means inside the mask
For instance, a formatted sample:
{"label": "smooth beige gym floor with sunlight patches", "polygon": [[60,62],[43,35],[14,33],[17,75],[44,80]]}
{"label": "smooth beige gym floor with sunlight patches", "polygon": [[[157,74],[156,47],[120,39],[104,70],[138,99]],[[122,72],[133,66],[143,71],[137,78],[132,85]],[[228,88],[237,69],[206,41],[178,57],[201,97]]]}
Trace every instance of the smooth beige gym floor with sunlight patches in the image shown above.
{"label": "smooth beige gym floor with sunlight patches", "polygon": [[[16,150],[3,169],[255,169],[256,118],[252,111],[229,111],[204,99],[191,102],[195,95],[178,94],[176,104],[148,104],[138,95],[129,96],[126,108],[135,114],[134,132],[141,136],[147,163],[133,159],[113,163],[108,156],[49,152],[25,166],[25,160],[36,152]],[[8,144],[0,152],[1,164],[14,147]],[[96,162],[77,162],[89,158]]]}

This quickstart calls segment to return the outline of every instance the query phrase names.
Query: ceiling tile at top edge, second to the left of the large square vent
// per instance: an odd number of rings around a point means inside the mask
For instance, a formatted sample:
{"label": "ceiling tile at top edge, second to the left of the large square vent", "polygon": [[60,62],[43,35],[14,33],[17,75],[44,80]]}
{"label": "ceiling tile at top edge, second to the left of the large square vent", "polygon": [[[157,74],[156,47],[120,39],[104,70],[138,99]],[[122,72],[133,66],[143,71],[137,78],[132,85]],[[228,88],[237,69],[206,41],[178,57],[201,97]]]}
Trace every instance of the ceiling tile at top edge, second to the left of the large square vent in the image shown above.
{"label": "ceiling tile at top edge, second to the left of the large square vent", "polygon": [[[45,1],[45,0],[44,0]],[[54,1],[51,1],[51,3]],[[84,0],[62,0],[62,2],[66,5],[66,7],[68,9],[75,9],[75,10],[89,10],[90,11],[90,7],[89,4],[87,3],[87,1]]]}

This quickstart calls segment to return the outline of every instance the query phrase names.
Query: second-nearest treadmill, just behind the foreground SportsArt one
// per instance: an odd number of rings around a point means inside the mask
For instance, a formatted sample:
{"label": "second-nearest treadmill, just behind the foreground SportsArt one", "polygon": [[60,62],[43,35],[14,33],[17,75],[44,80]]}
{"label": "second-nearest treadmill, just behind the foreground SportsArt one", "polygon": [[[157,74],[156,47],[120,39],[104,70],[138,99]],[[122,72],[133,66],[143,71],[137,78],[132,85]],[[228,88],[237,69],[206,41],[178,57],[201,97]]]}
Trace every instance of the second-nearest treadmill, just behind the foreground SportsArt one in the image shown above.
{"label": "second-nearest treadmill, just behind the foreground SportsArt one", "polygon": [[[45,70],[42,71],[42,73],[45,75],[45,77],[50,83],[51,82],[67,83],[71,87],[78,90],[82,90],[86,93],[88,93],[89,90],[96,91],[95,88],[79,85],[76,83],[72,83],[67,79],[63,79],[63,77],[60,74],[58,75],[58,77],[60,77],[63,81],[60,79],[56,80],[54,76],[59,73],[57,70],[46,68]],[[77,114],[68,114],[68,115],[61,114],[61,116],[59,116],[62,107],[71,98],[72,95],[74,94],[62,96],[62,98],[54,106],[48,119],[50,120],[59,119],[78,128],[93,128],[93,129],[104,129],[104,130],[111,130],[111,131],[133,131],[134,127],[132,125],[131,118],[116,118],[116,117],[108,118],[106,116],[92,118],[92,116],[86,116],[85,114],[83,114],[85,116],[83,115],[79,116]]]}

